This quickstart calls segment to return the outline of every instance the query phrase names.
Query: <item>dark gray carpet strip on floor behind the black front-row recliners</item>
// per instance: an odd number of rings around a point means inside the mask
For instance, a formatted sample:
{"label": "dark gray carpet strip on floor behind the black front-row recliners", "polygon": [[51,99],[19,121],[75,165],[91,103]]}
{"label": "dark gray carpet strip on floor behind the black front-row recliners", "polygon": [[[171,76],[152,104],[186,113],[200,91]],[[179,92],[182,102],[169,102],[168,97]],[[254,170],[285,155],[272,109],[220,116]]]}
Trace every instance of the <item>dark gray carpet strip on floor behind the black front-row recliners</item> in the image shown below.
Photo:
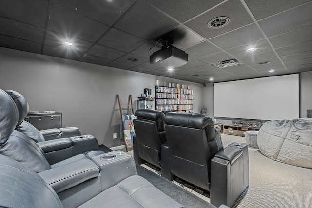
{"label": "dark gray carpet strip on floor behind the black front-row recliners", "polygon": [[186,208],[216,208],[214,205],[140,165],[137,165],[137,174],[151,182],[157,189],[175,199]]}

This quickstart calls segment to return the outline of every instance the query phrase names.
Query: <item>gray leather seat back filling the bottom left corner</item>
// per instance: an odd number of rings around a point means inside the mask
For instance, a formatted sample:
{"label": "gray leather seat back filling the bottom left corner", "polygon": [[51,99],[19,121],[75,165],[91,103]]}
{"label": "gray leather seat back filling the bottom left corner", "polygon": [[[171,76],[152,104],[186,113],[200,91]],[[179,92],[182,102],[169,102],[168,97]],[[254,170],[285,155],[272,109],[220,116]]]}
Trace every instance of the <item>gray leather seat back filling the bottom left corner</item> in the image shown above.
{"label": "gray leather seat back filling the bottom left corner", "polygon": [[37,173],[0,155],[0,206],[62,208],[57,193]]}

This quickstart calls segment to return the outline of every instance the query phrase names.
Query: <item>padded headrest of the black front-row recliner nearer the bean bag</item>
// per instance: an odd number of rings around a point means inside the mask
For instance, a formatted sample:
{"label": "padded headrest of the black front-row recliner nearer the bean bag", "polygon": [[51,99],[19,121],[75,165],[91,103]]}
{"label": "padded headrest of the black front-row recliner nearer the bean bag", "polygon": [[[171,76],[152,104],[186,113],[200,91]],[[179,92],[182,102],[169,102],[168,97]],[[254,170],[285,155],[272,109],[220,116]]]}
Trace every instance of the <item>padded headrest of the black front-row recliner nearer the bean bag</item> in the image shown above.
{"label": "padded headrest of the black front-row recliner nearer the bean bag", "polygon": [[199,113],[170,112],[165,116],[166,125],[204,129],[208,141],[215,138],[215,124],[208,115]]}

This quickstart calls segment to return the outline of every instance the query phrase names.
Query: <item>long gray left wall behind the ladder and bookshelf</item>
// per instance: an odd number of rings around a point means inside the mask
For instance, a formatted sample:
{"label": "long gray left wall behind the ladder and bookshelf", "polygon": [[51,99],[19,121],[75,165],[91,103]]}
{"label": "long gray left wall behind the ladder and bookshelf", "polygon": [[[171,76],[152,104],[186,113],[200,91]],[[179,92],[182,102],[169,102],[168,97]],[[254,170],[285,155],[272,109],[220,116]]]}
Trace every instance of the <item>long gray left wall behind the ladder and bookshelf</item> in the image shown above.
{"label": "long gray left wall behind the ladder and bookshelf", "polygon": [[194,90],[194,112],[200,113],[202,84],[0,47],[1,89],[20,92],[31,111],[62,112],[63,127],[77,126],[108,147],[122,145],[116,95],[128,104],[131,94],[137,110],[137,97],[144,88],[151,88],[155,96],[156,79],[160,84],[189,85]]}

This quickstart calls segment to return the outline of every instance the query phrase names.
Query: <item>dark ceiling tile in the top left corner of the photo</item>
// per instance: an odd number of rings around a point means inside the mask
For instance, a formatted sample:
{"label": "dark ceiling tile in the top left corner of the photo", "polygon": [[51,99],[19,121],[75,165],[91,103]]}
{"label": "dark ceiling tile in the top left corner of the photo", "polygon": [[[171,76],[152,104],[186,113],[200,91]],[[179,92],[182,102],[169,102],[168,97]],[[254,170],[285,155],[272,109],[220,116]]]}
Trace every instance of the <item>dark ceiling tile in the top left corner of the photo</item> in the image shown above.
{"label": "dark ceiling tile in the top left corner of the photo", "polygon": [[44,28],[47,0],[1,0],[0,16]]}

